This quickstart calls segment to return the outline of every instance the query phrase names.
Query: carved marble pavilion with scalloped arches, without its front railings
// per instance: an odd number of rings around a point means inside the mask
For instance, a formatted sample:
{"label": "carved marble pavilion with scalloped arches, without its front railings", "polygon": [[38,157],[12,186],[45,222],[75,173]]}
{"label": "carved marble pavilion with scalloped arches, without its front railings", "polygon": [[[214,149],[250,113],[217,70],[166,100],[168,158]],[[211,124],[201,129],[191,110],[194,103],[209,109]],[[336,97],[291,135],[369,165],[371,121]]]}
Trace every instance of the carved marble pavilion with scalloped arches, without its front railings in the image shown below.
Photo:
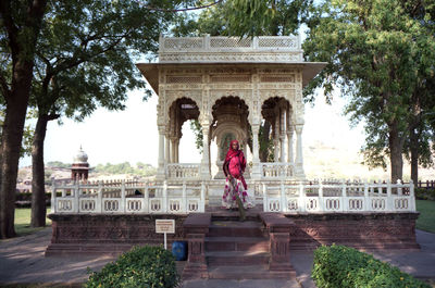
{"label": "carved marble pavilion with scalloped arches, without its front railings", "polygon": [[[137,64],[159,96],[159,179],[171,179],[175,167],[183,170],[178,143],[186,120],[198,120],[202,129],[204,149],[194,178],[222,176],[211,174],[211,163],[220,166],[234,138],[252,155],[251,179],[268,177],[264,171],[273,164],[286,165],[290,171],[286,177],[304,178],[302,88],[324,63],[303,62],[298,37],[161,38],[159,60]],[[259,158],[259,129],[264,121],[272,127],[274,163],[261,163]],[[213,160],[212,140],[219,146]]]}

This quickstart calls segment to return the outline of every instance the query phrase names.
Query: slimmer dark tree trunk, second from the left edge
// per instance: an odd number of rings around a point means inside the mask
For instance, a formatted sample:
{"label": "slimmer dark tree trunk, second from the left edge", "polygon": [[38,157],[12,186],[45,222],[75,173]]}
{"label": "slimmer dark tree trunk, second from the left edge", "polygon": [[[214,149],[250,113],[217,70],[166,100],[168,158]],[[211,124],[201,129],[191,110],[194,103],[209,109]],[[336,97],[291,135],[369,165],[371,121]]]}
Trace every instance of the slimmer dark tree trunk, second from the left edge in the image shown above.
{"label": "slimmer dark tree trunk, second from the left edge", "polygon": [[46,185],[44,164],[44,140],[48,116],[39,115],[32,143],[32,227],[46,226]]}

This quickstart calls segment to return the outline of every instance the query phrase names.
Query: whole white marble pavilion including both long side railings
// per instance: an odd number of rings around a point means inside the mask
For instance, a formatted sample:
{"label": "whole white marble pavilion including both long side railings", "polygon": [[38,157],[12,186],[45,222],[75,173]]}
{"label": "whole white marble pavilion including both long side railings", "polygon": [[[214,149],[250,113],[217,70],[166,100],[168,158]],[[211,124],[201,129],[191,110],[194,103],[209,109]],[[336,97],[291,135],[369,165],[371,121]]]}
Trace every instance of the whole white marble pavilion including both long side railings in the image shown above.
{"label": "whole white marble pavilion including both long side railings", "polygon": [[[137,66],[159,96],[156,180],[54,181],[61,197],[53,193],[53,213],[204,212],[221,204],[222,162],[233,139],[247,155],[248,193],[265,212],[415,211],[412,183],[306,179],[302,89],[325,63],[304,62],[298,37],[162,37],[159,62]],[[188,120],[201,126],[201,163],[179,163]],[[263,121],[272,126],[274,162],[260,162]]]}

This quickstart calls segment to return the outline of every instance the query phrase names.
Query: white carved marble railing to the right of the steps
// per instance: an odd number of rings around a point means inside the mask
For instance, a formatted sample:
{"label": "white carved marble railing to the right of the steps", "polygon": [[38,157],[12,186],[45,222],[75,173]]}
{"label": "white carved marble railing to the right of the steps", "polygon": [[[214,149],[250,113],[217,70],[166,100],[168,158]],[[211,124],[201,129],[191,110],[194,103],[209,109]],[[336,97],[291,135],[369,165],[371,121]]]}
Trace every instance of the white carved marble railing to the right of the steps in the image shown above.
{"label": "white carved marble railing to the right of the steps", "polygon": [[325,181],[263,185],[265,212],[361,213],[415,211],[413,183]]}

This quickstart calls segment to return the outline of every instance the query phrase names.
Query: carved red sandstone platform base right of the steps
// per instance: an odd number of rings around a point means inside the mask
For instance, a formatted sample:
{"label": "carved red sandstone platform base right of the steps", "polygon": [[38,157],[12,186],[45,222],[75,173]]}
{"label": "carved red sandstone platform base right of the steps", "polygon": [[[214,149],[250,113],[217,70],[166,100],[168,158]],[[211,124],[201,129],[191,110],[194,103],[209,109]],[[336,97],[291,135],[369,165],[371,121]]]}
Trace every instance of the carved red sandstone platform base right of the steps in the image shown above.
{"label": "carved red sandstone platform base right of the steps", "polygon": [[334,213],[286,215],[295,223],[291,250],[344,245],[360,250],[420,249],[415,240],[419,213]]}

